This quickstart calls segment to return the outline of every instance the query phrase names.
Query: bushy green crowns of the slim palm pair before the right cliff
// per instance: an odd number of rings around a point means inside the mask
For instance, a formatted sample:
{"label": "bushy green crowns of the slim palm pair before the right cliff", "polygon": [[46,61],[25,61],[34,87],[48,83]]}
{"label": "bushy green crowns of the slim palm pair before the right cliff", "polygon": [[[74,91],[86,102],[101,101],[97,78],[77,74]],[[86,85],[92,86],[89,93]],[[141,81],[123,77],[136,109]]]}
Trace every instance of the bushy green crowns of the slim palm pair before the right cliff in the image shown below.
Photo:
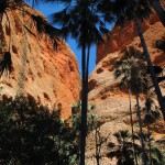
{"label": "bushy green crowns of the slim palm pair before the right cliff", "polygon": [[114,64],[114,78],[120,78],[120,85],[129,87],[133,94],[146,92],[150,78],[143,54],[134,47],[122,53],[122,59]]}

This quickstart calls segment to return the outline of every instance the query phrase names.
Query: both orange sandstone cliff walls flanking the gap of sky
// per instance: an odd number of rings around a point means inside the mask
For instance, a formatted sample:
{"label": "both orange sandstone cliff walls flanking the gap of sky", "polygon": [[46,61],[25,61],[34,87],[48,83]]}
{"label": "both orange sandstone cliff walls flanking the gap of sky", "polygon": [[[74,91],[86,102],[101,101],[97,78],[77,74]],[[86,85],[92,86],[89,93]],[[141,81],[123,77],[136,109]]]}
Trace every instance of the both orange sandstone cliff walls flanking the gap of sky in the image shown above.
{"label": "both orange sandstone cliff walls flanking the gap of sky", "polygon": [[[23,10],[13,8],[2,18],[0,33],[0,61],[2,52],[11,53],[12,72],[4,73],[0,79],[0,97],[24,95],[33,97],[38,103],[62,110],[62,118],[72,114],[72,105],[80,100],[80,74],[75,54],[62,38],[52,40],[48,34],[37,32],[34,16],[46,18],[26,3]],[[153,13],[147,21],[141,22],[144,38],[154,65],[165,67],[165,52],[155,47],[155,42],[165,37],[165,28]],[[56,47],[54,47],[56,43]],[[113,133],[130,130],[129,96],[114,79],[114,62],[122,58],[122,51],[135,47],[142,52],[142,44],[133,22],[123,26],[114,25],[110,37],[97,45],[97,66],[89,77],[89,105],[96,106],[92,113],[100,122],[100,133],[106,138],[101,148],[101,165],[113,165],[116,160],[108,158],[107,144],[113,141]],[[165,69],[163,72],[165,76]],[[165,96],[165,81],[161,84]],[[135,97],[132,97],[134,123]],[[156,98],[154,98],[156,100]],[[140,97],[144,103],[144,97]],[[144,130],[146,128],[144,127]],[[165,140],[165,127],[160,119],[152,128],[155,141]],[[87,138],[87,163],[96,165],[95,131]]]}

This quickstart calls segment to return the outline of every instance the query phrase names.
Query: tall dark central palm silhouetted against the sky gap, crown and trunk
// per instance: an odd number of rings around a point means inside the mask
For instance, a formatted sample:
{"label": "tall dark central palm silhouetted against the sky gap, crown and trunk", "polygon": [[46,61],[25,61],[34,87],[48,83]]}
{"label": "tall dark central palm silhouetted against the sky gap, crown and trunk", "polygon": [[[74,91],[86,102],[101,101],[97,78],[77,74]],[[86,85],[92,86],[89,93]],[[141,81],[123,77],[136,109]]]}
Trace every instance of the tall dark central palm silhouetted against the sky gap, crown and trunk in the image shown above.
{"label": "tall dark central palm silhouetted against the sky gap, crown and trunk", "polygon": [[[54,1],[53,1],[54,2]],[[85,147],[87,133],[87,105],[88,105],[88,65],[90,45],[102,41],[102,34],[108,32],[101,14],[97,12],[97,0],[61,0],[65,8],[53,14],[53,22],[62,26],[65,37],[70,35],[81,48],[81,140],[80,164],[85,164]]]}

